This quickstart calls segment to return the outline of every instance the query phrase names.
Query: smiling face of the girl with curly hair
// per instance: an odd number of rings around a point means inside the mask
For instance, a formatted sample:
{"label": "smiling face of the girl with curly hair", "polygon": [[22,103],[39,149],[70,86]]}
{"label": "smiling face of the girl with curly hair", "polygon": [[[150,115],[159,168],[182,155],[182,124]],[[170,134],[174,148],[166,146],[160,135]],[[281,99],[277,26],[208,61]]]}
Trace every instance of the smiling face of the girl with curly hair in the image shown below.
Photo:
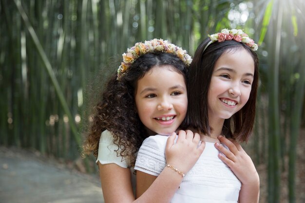
{"label": "smiling face of the girl with curly hair", "polygon": [[136,109],[152,134],[170,135],[182,123],[188,106],[185,82],[170,65],[152,67],[137,81]]}

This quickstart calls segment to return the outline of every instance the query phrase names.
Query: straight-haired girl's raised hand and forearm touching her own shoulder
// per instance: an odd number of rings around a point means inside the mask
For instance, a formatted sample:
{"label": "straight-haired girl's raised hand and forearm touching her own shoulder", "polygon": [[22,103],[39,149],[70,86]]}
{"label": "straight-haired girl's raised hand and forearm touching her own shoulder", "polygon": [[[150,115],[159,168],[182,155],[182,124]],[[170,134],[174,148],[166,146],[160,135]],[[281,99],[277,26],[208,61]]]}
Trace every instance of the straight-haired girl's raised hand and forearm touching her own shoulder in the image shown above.
{"label": "straight-haired girl's raised hand and forearm touching her own shoulder", "polygon": [[225,155],[219,153],[219,158],[230,167],[242,183],[238,202],[258,203],[260,180],[251,158],[236,141],[229,140],[224,136],[218,136],[218,139],[229,148],[228,150],[215,143],[215,147]]}

